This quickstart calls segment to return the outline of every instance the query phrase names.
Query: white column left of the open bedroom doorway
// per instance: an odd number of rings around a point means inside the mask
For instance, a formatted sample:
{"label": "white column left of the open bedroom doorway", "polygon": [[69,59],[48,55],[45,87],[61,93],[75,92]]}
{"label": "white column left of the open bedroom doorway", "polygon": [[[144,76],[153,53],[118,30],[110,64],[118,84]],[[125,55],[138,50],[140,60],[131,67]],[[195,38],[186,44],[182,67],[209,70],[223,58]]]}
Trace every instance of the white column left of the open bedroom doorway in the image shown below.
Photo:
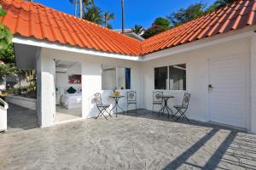
{"label": "white column left of the open bedroom doorway", "polygon": [[43,48],[37,59],[38,122],[41,127],[53,125],[55,116],[55,61]]}

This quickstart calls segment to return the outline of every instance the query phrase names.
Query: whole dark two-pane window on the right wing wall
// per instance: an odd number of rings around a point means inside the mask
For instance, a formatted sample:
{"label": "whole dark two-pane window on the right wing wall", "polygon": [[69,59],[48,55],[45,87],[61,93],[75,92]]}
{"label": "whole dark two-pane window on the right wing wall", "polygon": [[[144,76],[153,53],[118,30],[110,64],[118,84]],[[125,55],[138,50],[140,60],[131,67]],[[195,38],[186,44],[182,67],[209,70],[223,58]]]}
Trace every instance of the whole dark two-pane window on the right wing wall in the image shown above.
{"label": "whole dark two-pane window on the right wing wall", "polygon": [[186,90],[186,64],[154,68],[154,89]]}

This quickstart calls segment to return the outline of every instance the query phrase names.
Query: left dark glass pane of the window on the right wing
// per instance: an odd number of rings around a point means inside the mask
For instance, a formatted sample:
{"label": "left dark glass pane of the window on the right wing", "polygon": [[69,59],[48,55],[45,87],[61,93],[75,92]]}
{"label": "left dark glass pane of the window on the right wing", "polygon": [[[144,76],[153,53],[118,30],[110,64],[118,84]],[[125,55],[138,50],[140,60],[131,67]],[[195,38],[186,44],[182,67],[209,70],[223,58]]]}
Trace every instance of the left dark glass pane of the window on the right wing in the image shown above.
{"label": "left dark glass pane of the window on the right wing", "polygon": [[167,67],[154,68],[154,89],[166,89],[167,88]]}

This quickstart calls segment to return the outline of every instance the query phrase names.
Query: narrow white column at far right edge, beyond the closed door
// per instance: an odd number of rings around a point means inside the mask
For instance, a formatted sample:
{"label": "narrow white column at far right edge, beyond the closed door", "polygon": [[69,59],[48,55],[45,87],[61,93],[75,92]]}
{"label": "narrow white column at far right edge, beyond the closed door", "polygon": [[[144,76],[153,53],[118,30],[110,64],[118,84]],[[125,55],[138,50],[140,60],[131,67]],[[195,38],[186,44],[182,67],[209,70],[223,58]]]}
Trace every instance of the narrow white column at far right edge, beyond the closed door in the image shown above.
{"label": "narrow white column at far right edge, beyond the closed door", "polygon": [[251,44],[251,131],[256,133],[256,34]]}

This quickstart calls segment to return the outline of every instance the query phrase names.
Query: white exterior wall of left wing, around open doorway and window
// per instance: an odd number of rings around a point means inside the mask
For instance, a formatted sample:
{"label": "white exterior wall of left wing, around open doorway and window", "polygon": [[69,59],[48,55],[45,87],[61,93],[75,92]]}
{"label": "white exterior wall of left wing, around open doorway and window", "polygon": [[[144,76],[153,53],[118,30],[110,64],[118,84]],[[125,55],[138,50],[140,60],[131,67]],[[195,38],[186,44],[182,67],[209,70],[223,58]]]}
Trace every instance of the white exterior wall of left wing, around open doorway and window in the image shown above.
{"label": "white exterior wall of left wing, around open doorway and window", "polygon": [[[43,48],[42,49],[42,64],[44,69],[44,76],[42,74],[42,82],[44,87],[46,83],[52,81],[53,78],[53,68],[51,67],[51,62],[54,59],[63,59],[63,60],[72,60],[72,61],[79,61],[82,65],[82,94],[83,94],[83,109],[82,109],[82,116],[83,118],[90,118],[95,117],[98,114],[96,109],[96,105],[94,102],[94,94],[102,93],[102,103],[103,104],[111,104],[113,105],[113,99],[109,98],[109,95],[113,93],[113,90],[102,90],[102,65],[115,65],[115,66],[122,66],[131,68],[131,89],[137,91],[137,107],[143,108],[142,105],[142,94],[143,90],[141,90],[141,67],[139,66],[141,63],[132,60],[124,60],[124,59],[113,59],[107,57],[99,57],[89,54],[77,54],[72,52],[66,52],[61,50]],[[44,80],[43,80],[44,79]],[[45,84],[44,84],[45,81]],[[42,89],[42,92],[44,89]],[[46,89],[45,89],[46,91]],[[121,94],[125,94],[126,90],[119,90]],[[45,92],[42,99],[49,99],[52,98],[51,93]],[[46,100],[45,100],[46,102]],[[47,101],[46,105],[43,104],[42,101],[42,117],[45,117],[44,120],[49,122],[48,124],[51,125],[53,122],[51,118],[52,110],[55,109],[53,106],[49,106],[49,101]],[[51,104],[50,104],[51,105]],[[120,100],[121,107],[126,111],[126,98]],[[132,107],[132,106],[131,106]],[[44,109],[45,108],[45,109]],[[51,111],[49,111],[51,110]],[[48,115],[48,116],[45,116]],[[49,118],[49,119],[48,119]],[[44,122],[44,121],[43,121]]]}

